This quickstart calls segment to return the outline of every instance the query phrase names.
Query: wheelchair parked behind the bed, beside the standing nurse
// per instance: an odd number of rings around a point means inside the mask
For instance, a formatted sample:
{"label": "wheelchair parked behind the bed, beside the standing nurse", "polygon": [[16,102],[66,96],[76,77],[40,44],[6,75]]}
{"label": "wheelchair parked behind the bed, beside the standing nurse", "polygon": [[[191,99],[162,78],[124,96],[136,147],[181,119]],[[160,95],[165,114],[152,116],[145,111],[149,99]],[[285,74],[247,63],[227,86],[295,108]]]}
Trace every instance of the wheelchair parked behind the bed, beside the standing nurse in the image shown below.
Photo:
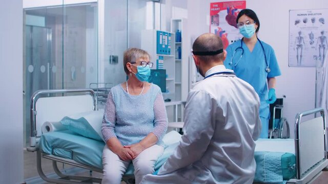
{"label": "wheelchair parked behind the bed, beside the standing nurse", "polygon": [[270,120],[269,120],[269,139],[289,139],[290,127],[288,121],[282,117],[283,96],[270,104]]}

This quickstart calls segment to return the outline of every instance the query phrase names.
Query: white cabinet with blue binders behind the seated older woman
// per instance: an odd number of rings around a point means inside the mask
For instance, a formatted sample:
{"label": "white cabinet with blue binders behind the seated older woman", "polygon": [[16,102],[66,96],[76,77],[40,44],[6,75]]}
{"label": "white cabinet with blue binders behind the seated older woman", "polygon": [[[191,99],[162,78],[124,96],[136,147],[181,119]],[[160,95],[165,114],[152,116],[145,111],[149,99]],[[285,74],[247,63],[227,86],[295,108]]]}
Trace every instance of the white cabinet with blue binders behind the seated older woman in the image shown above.
{"label": "white cabinet with blue binders behind the seated older woman", "polygon": [[[164,99],[176,100],[176,64],[175,33],[160,30],[141,31],[141,49],[151,55],[154,63],[152,70],[166,70],[166,90],[162,91]],[[178,99],[180,100],[180,99]]]}

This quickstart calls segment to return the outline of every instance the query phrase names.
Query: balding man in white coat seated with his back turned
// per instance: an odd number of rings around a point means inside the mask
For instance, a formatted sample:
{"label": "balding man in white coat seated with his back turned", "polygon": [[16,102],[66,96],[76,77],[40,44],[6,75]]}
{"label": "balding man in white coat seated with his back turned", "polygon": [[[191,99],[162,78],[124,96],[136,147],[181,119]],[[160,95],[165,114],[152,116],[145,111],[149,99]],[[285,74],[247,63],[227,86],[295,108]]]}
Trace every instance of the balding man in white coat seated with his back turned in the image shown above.
{"label": "balding man in white coat seated with his back turned", "polygon": [[185,107],[184,134],[157,175],[141,183],[252,183],[255,141],[261,130],[254,88],[227,70],[220,37],[206,33],[193,43],[205,78],[194,84]]}

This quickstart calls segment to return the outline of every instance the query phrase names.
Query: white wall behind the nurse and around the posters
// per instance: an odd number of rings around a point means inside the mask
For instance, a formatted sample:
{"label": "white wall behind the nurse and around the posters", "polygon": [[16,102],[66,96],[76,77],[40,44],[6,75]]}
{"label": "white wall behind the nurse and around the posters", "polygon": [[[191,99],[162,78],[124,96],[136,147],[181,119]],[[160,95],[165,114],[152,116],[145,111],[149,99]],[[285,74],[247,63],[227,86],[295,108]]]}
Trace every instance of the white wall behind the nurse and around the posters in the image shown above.
{"label": "white wall behind the nurse and around the posters", "polygon": [[[218,0],[188,1],[190,37],[209,32],[210,3]],[[286,96],[283,116],[291,125],[294,136],[294,121],[299,111],[314,108],[315,67],[289,67],[289,10],[328,8],[326,0],[248,0],[246,6],[256,12],[260,20],[259,37],[275,50],[282,75],[277,77],[276,95]],[[328,17],[327,17],[328,18]],[[326,18],[326,19],[327,19]]]}

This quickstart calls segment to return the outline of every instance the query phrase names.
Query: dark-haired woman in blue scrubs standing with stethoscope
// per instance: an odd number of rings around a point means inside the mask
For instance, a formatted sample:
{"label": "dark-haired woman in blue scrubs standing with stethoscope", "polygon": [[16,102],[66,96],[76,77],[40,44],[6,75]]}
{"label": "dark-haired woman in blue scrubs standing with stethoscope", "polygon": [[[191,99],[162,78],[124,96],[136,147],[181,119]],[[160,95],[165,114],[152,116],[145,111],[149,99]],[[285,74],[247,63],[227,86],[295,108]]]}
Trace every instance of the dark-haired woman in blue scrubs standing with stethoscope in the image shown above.
{"label": "dark-haired woman in blue scrubs standing with stethoscope", "polygon": [[243,38],[230,44],[224,65],[233,70],[237,77],[251,84],[260,97],[260,138],[268,138],[270,109],[276,101],[276,78],[280,69],[272,47],[260,40],[256,33],[260,21],[253,10],[243,9],[237,18],[237,27]]}

